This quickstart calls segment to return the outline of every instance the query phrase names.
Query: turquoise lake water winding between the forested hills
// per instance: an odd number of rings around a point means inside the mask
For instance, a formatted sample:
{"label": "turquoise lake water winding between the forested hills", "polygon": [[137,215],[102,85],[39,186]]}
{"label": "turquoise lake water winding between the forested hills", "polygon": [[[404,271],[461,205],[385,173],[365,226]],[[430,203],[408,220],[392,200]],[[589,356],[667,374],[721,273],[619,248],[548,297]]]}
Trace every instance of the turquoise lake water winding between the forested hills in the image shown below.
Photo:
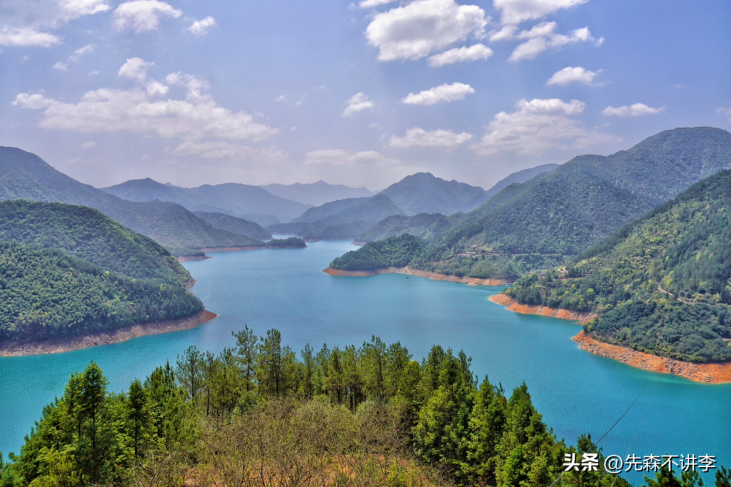
{"label": "turquoise lake water winding between the forested hills", "polygon": [[[372,334],[401,341],[421,358],[433,344],[463,349],[480,377],[507,394],[525,380],[559,438],[607,435],[605,454],[715,455],[731,465],[731,385],[706,386],[633,369],[577,348],[579,327],[519,315],[488,301],[500,288],[470,287],[405,275],[333,277],[320,272],[349,242],[306,249],[219,252],[187,262],[193,291],[219,317],[200,328],[47,356],[0,358],[0,450],[18,451],[41,408],[63,392],[71,372],[96,361],[120,391],[189,345],[217,352],[232,330],[281,331],[295,350],[310,343],[361,344]],[[639,476],[631,478],[640,480]]]}

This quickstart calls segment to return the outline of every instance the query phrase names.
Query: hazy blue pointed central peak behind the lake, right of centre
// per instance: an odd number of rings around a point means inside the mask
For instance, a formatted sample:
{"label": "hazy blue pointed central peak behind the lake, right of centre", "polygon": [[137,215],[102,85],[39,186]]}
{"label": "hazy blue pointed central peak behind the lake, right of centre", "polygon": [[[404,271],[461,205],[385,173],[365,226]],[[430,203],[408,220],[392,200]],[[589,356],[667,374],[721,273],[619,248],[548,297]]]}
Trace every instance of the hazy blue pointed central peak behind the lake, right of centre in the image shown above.
{"label": "hazy blue pointed central peak behind the lake, right of centre", "polygon": [[452,215],[469,212],[487,201],[485,190],[477,186],[446,181],[428,172],[406,176],[390,185],[381,193],[388,196],[407,215],[418,213],[441,213]]}

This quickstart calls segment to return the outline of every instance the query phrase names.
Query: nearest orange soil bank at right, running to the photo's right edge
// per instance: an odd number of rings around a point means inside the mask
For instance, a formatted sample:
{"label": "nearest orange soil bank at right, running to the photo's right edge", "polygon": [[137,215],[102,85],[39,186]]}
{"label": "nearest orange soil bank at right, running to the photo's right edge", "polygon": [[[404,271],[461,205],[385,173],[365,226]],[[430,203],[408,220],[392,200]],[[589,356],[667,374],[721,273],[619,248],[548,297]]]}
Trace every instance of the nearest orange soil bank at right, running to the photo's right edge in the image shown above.
{"label": "nearest orange soil bank at right, running to the photo's right edge", "polygon": [[695,382],[707,384],[731,382],[731,362],[724,364],[692,364],[673,358],[654,356],[649,353],[637,352],[631,348],[597,342],[584,331],[577,334],[574,340],[579,343],[581,350],[586,350],[600,357],[614,358],[638,369],[679,375]]}

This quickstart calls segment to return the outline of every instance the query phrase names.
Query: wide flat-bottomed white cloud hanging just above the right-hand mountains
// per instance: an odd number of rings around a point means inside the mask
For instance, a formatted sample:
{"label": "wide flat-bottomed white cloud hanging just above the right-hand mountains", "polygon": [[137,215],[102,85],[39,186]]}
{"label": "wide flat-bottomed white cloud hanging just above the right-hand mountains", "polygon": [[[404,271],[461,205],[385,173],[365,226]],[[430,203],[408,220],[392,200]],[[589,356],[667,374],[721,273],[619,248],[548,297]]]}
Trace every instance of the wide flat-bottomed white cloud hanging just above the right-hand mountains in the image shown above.
{"label": "wide flat-bottomed white cloud hanging just above the right-hand mountains", "polygon": [[570,118],[583,112],[586,104],[560,99],[520,100],[515,112],[499,112],[477,145],[482,155],[515,151],[520,156],[549,149],[583,149],[618,137],[587,129],[581,120]]}

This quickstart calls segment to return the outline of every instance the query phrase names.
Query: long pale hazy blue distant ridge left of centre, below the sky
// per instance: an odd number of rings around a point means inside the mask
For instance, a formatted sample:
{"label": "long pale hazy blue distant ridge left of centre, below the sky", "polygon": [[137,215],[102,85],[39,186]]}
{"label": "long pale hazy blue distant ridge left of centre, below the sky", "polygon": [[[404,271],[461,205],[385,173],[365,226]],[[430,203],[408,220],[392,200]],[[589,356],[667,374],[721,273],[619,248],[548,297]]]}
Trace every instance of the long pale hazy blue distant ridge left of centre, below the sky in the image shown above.
{"label": "long pale hazy blue distant ridge left of centre, below the sky", "polygon": [[161,202],[181,204],[191,211],[221,212],[234,216],[262,213],[274,215],[280,221],[290,221],[311,206],[280,198],[258,186],[237,183],[180,188],[147,178],[129,180],[102,188],[102,191],[132,202],[159,199]]}

